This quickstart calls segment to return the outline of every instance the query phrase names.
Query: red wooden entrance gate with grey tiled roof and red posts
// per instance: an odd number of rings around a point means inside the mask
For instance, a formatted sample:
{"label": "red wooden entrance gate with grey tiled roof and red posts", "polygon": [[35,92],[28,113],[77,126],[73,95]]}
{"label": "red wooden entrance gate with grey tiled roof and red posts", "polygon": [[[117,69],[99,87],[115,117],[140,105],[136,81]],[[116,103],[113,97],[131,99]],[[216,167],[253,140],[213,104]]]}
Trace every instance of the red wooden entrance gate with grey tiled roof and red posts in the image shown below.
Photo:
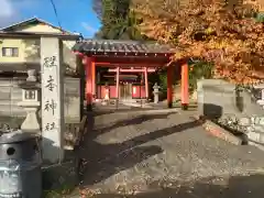
{"label": "red wooden entrance gate with grey tiled roof and red posts", "polygon": [[[117,73],[116,96],[119,98],[119,74],[131,67],[141,67],[135,72],[143,72],[147,88],[147,69],[167,66],[167,107],[173,107],[173,66],[170,47],[151,42],[113,41],[113,40],[82,40],[75,44],[73,51],[82,58],[86,69],[86,100],[87,110],[91,110],[92,98],[96,94],[96,67],[113,67]],[[182,64],[182,107],[188,108],[188,64]],[[147,89],[146,89],[147,90]]]}

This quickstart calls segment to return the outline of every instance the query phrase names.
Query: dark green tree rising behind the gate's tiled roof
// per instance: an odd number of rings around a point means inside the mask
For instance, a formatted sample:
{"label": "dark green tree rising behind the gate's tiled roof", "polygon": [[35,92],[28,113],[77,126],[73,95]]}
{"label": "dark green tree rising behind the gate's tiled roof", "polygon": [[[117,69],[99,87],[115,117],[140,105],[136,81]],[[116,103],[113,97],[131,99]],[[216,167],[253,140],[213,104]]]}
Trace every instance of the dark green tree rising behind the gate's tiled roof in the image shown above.
{"label": "dark green tree rising behind the gate's tiled roof", "polygon": [[130,9],[130,0],[94,0],[94,10],[101,20],[98,38],[147,40],[139,31],[141,20]]}

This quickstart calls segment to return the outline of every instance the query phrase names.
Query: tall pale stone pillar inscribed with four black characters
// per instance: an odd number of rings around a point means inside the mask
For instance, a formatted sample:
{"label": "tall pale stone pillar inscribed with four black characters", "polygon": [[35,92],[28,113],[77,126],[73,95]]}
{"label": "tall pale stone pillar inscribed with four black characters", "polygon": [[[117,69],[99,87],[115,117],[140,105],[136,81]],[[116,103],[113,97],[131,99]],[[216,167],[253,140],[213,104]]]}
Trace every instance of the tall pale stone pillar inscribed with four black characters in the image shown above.
{"label": "tall pale stone pillar inscribed with four black characters", "polygon": [[41,38],[43,158],[58,163],[64,158],[64,73],[62,41]]}

